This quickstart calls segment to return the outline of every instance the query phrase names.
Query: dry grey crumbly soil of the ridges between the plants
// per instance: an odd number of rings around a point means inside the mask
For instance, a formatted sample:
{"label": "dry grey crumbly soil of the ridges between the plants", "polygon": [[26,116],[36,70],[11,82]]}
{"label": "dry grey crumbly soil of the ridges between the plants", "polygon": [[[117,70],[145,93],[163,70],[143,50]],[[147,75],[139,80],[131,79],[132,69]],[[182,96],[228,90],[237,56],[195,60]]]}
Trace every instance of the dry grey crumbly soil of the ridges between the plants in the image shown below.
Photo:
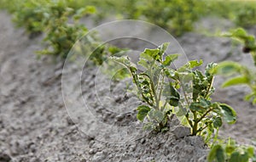
{"label": "dry grey crumbly soil of the ridges between the plants", "polygon": [[[0,21],[0,162],[206,160],[208,149],[201,137],[189,136],[176,119],[165,134],[141,131],[136,120],[141,102],[124,91],[131,80],[114,82],[96,67],[82,66],[81,73],[78,64],[68,62],[63,70],[59,59],[38,59],[35,51],[42,49],[42,36],[30,39],[3,11]],[[201,20],[199,26],[211,30],[212,21]],[[190,32],[177,41],[189,59],[203,59],[205,64],[235,60],[253,67],[251,58],[229,39]],[[142,48],[133,40],[125,43]],[[222,89],[222,81],[216,78],[213,100],[229,103],[238,117],[236,124],[224,125],[220,135],[255,145],[256,109],[243,101],[249,90]],[[80,107],[83,102],[87,108]]]}

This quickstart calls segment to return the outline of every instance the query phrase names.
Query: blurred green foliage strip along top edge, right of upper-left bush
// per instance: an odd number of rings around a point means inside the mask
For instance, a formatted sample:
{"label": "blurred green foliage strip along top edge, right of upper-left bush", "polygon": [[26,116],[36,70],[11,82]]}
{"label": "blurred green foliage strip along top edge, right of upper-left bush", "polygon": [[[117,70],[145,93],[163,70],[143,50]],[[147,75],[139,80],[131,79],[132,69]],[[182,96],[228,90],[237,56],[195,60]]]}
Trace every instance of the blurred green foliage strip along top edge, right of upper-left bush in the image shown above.
{"label": "blurred green foliage strip along top edge, right of upper-left bush", "polygon": [[192,31],[195,21],[204,16],[218,16],[237,26],[256,25],[255,1],[222,0],[78,0],[73,6],[94,5],[97,19],[118,15],[123,19],[145,20],[160,25],[171,34],[181,36]]}

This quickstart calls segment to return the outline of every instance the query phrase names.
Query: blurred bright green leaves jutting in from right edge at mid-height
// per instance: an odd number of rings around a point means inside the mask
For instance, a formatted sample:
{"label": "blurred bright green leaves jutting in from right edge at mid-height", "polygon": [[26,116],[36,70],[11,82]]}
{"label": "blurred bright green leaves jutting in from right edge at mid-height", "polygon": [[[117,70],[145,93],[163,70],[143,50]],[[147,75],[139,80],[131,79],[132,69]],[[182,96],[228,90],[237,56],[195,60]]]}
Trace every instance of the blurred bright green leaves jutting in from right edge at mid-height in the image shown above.
{"label": "blurred bright green leaves jutting in from right edge at mid-height", "polygon": [[[256,42],[254,36],[248,35],[247,32],[241,28],[225,33],[224,36],[229,36],[241,42],[243,44],[242,51],[244,53],[251,53],[254,65],[256,66]],[[256,70],[236,62],[224,61],[218,64],[214,72],[219,75],[232,76],[223,83],[223,87],[237,85],[247,85],[250,87],[252,92],[247,94],[245,99],[247,101],[252,100],[253,104],[256,103]]]}

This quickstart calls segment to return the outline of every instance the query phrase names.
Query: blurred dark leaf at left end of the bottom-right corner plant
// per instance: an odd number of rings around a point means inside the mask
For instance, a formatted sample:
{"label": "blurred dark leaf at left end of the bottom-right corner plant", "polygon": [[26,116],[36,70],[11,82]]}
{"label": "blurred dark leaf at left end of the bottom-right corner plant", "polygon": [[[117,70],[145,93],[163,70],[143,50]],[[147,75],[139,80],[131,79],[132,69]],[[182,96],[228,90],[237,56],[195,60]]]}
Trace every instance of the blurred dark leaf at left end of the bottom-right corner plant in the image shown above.
{"label": "blurred dark leaf at left end of the bottom-right corner plant", "polygon": [[222,148],[222,146],[219,144],[213,146],[210,153],[208,154],[207,160],[209,162],[224,162],[224,149]]}

